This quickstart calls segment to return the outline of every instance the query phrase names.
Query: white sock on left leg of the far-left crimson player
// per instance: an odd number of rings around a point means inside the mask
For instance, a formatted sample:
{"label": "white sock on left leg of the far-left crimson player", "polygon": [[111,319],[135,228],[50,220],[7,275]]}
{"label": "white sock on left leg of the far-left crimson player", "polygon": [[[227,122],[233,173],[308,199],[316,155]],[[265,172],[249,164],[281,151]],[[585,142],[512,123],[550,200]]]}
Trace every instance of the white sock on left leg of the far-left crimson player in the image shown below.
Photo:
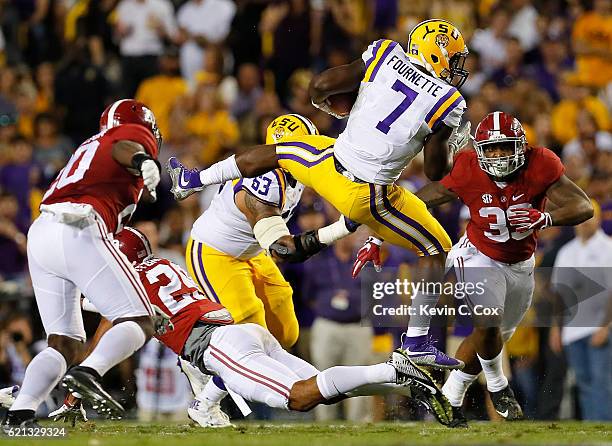
{"label": "white sock on left leg of the far-left crimson player", "polygon": [[11,410],[36,410],[66,373],[66,360],[47,347],[32,359],[26,369],[21,390]]}

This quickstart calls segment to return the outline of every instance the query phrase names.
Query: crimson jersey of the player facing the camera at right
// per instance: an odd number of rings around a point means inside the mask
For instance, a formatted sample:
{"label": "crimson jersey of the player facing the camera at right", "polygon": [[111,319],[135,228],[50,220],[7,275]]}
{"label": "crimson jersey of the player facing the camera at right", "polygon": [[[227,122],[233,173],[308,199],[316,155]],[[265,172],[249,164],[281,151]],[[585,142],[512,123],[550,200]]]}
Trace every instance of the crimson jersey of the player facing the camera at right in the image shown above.
{"label": "crimson jersey of the player facing the camera at right", "polygon": [[499,262],[526,260],[536,248],[534,231],[518,233],[510,228],[508,209],[543,211],[546,190],[565,171],[559,157],[544,147],[531,148],[525,158],[525,165],[516,177],[511,182],[500,183],[480,168],[474,150],[462,151],[456,156],[451,172],[440,181],[470,209],[466,230],[470,242]]}

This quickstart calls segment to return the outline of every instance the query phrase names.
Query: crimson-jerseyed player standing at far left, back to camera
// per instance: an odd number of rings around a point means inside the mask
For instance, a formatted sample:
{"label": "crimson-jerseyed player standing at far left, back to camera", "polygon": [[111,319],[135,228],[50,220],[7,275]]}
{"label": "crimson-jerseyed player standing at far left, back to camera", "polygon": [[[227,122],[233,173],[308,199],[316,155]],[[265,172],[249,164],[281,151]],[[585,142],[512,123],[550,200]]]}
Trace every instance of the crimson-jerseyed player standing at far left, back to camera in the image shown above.
{"label": "crimson-jerseyed player standing at far left, back to camera", "polygon": [[100,410],[122,407],[99,385],[101,375],[153,333],[153,311],[138,273],[113,245],[112,233],[146,189],[155,199],[161,135],[151,110],[132,99],[111,104],[100,132],[81,144],[45,193],[28,232],[28,264],[48,347],[29,364],[5,426],[35,426],[34,413],[72,365],[85,341],[79,296],[113,327],[64,384]]}

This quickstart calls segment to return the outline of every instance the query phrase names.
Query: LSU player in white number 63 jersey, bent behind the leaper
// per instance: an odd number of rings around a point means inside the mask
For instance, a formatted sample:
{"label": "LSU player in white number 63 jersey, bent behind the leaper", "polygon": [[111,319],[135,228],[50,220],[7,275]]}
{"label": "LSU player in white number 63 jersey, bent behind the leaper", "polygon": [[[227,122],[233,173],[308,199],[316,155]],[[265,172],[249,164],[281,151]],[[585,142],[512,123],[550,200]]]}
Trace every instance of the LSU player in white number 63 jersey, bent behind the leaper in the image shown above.
{"label": "LSU player in white number 63 jersey, bent behind the leaper", "polygon": [[[287,114],[268,126],[266,142],[318,133],[308,118]],[[299,334],[293,291],[265,250],[281,236],[289,236],[286,222],[303,190],[304,186],[282,169],[228,181],[193,224],[186,252],[191,276],[230,311],[236,323],[252,322],[267,328],[284,348],[295,344]],[[269,219],[278,222],[278,228],[269,228]],[[357,226],[341,218],[319,229],[316,237],[306,233],[295,236],[295,241],[312,255]]]}

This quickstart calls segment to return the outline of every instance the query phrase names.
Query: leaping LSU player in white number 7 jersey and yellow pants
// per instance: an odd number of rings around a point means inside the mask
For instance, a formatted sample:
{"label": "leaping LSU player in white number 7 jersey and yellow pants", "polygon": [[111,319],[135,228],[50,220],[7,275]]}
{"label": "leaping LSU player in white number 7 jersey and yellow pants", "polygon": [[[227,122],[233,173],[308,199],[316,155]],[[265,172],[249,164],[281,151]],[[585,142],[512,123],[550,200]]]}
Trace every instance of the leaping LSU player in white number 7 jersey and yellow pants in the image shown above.
{"label": "leaping LSU player in white number 7 jersey and yellow pants", "polygon": [[[444,275],[451,241],[425,204],[395,184],[421,150],[425,173],[438,180],[448,171],[448,149],[461,145],[469,127],[459,127],[465,101],[458,88],[467,78],[463,64],[468,50],[459,30],[445,20],[418,24],[408,48],[377,40],[354,62],[315,76],[313,103],[333,110],[335,95],[358,90],[346,129],[337,140],[320,135],[285,139],[250,148],[202,171],[188,170],[171,158],[168,170],[177,199],[210,184],[251,178],[277,168],[312,187],[342,215],[367,225],[390,243],[416,252],[423,280]],[[265,218],[261,231],[278,235],[280,245],[293,249],[282,235],[280,221]],[[435,306],[438,294],[418,293],[415,305]],[[428,337],[430,316],[410,319],[402,348],[416,363],[460,368],[461,361],[439,351]]]}

